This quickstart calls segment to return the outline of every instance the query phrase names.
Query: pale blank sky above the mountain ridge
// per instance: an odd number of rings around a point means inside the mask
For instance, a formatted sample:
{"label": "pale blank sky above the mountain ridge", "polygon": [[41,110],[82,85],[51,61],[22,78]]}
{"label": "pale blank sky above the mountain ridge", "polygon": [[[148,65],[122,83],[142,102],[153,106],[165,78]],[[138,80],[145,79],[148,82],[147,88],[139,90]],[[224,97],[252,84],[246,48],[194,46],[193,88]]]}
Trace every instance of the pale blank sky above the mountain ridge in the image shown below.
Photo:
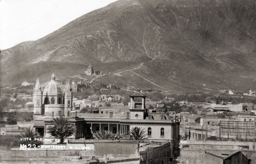
{"label": "pale blank sky above the mountain ridge", "polygon": [[0,49],[35,41],[116,0],[0,0]]}

